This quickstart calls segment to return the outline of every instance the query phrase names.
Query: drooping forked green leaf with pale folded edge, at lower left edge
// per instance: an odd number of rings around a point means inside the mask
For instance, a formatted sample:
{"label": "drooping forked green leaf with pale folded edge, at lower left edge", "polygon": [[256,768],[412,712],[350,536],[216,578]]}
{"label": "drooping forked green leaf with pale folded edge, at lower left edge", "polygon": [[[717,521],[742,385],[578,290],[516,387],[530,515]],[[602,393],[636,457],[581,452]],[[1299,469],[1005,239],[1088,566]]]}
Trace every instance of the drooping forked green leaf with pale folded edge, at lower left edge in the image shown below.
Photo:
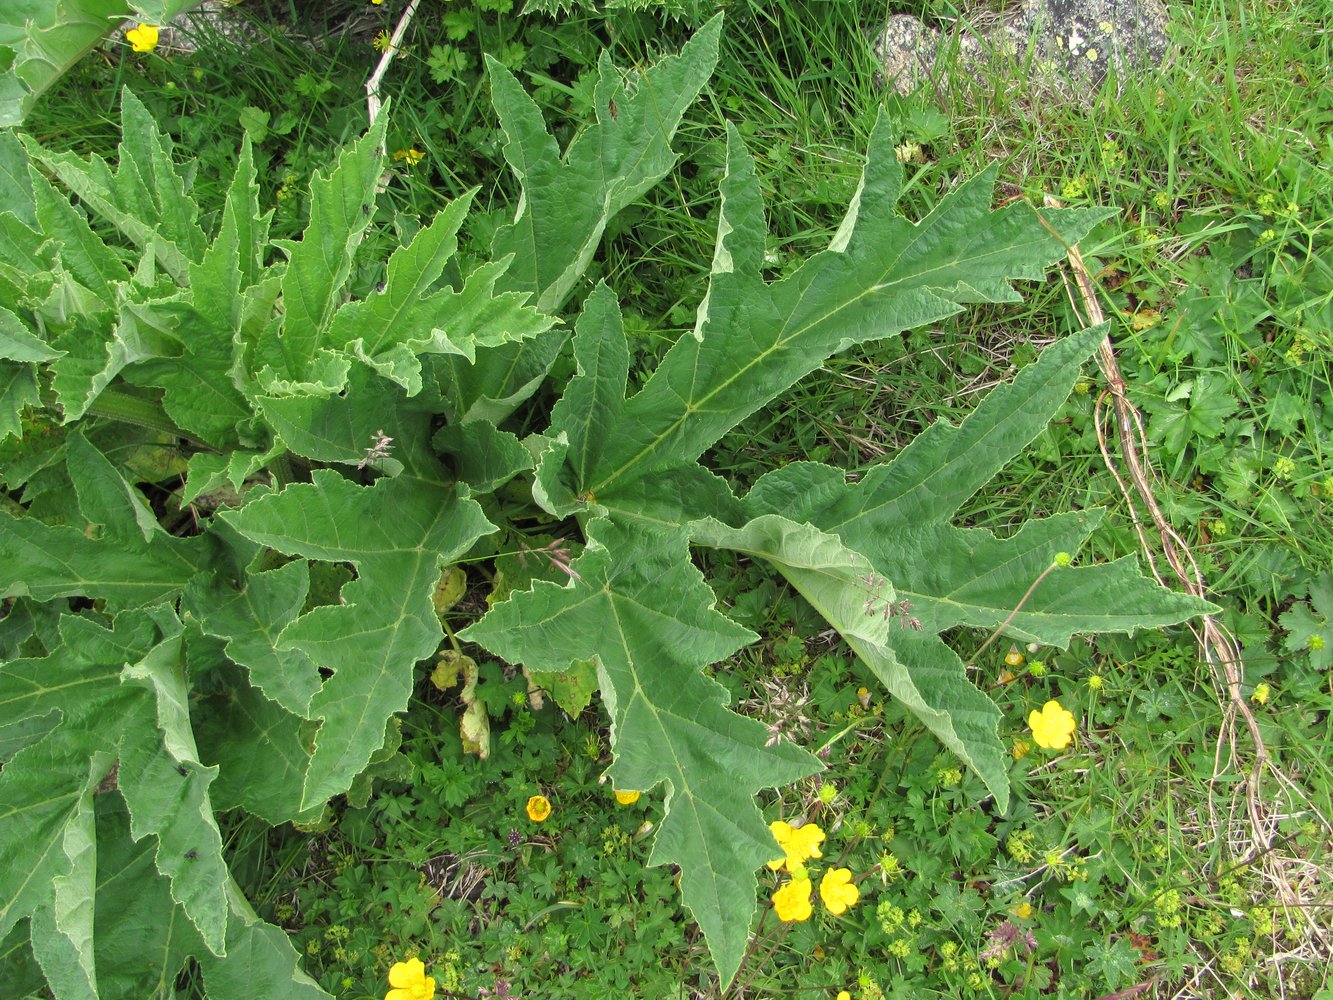
{"label": "drooping forked green leaf with pale folded edge, at lower left edge", "polygon": [[92,796],[113,773],[132,836],[152,835],[175,905],[225,956],[229,875],[208,799],[216,768],[195,748],[179,621],[165,608],[121,612],[109,629],[65,616],[60,636],[49,656],[0,672],[7,720],[60,716],[0,772],[0,936],[29,917],[48,977],[59,981],[61,956],[76,956],[95,991]]}

